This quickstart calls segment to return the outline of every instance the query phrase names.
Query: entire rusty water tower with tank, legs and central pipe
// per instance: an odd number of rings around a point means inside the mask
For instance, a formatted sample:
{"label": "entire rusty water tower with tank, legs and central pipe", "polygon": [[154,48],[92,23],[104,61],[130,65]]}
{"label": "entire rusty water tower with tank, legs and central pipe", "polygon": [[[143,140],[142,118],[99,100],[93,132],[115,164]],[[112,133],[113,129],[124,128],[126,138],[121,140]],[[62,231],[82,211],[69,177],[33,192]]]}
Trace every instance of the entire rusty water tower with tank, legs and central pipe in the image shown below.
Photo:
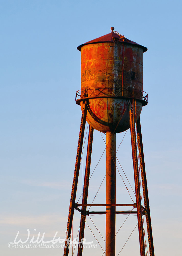
{"label": "entire rusty water tower with tank, legs and central pipe", "polygon": [[[76,92],[76,103],[81,106],[82,116],[75,171],[71,191],[67,236],[64,256],[69,253],[68,241],[71,236],[74,210],[81,212],[79,241],[84,238],[85,220],[89,215],[88,206],[105,206],[106,246],[105,255],[115,256],[116,206],[136,208],[138,220],[140,255],[145,256],[144,218],[146,219],[150,256],[154,256],[151,218],[148,200],[147,180],[143,154],[140,113],[147,105],[147,93],[143,92],[143,52],[147,48],[114,31],[77,47],[81,51],[81,90]],[[86,167],[82,204],[76,204],[76,191],[80,169],[83,137],[86,121],[89,124]],[[116,133],[130,128],[132,159],[134,168],[134,204],[116,204]],[[104,204],[88,204],[88,187],[92,140],[94,129],[106,133],[106,201]],[[142,180],[144,205],[141,201],[139,169]],[[81,207],[81,208],[79,208]],[[78,256],[82,255],[78,248]]]}

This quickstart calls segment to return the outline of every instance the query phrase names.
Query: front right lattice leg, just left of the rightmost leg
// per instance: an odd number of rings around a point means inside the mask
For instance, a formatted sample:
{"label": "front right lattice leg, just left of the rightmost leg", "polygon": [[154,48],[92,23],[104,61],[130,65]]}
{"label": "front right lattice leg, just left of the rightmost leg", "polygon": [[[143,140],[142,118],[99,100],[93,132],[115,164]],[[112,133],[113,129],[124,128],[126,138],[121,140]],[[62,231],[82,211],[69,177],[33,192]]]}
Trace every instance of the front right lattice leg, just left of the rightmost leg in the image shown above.
{"label": "front right lattice leg, just left of the rightmost leg", "polygon": [[142,205],[141,205],[141,194],[140,194],[140,180],[139,180],[138,157],[137,157],[137,142],[136,142],[136,132],[135,132],[135,114],[134,114],[133,109],[131,108],[131,104],[130,104],[129,105],[129,116],[130,116],[130,131],[131,131],[131,147],[132,147],[132,156],[133,156],[135,194],[136,194],[136,203],[137,203],[137,219],[138,219],[138,232],[139,232],[139,241],[140,241],[140,255],[145,256]]}

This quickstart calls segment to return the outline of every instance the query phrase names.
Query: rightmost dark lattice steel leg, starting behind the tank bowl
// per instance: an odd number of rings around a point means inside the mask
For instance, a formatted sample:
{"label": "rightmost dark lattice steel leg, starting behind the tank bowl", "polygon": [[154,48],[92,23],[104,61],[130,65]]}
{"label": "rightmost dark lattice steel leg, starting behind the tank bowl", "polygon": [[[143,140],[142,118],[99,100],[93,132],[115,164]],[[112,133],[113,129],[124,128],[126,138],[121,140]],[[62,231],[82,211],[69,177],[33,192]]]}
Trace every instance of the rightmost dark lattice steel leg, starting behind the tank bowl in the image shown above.
{"label": "rightmost dark lattice steel leg, starting behind the tank bowl", "polygon": [[150,252],[150,256],[154,256],[152,225],[151,225],[151,218],[150,218],[149,197],[148,197],[147,179],[146,179],[146,172],[145,172],[145,161],[144,161],[144,154],[143,154],[140,118],[137,120],[137,141],[138,141],[138,151],[139,151],[139,157],[140,157],[140,170],[141,170],[141,177],[142,177],[144,205],[145,205],[145,209],[147,210],[146,223],[147,223],[147,234],[148,234],[148,242],[149,242],[149,252]]}

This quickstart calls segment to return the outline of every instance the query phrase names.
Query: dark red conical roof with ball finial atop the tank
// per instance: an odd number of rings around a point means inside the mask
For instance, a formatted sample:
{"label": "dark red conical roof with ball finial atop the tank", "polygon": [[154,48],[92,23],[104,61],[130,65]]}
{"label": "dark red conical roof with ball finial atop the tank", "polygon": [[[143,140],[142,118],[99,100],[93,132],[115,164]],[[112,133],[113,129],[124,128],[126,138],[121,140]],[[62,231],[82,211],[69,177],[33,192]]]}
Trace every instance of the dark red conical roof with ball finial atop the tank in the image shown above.
{"label": "dark red conical roof with ball finial atop the tank", "polygon": [[147,51],[147,47],[145,46],[142,46],[142,45],[139,45],[137,44],[136,42],[133,42],[129,39],[127,39],[126,37],[122,36],[121,34],[119,34],[118,32],[114,31],[114,27],[111,27],[111,32],[109,34],[106,34],[104,36],[101,36],[101,37],[98,37],[96,39],[93,39],[89,42],[86,42],[84,44],[81,44],[77,47],[77,49],[79,51],[81,51],[81,47],[84,46],[84,45],[88,45],[88,44],[96,44],[96,43],[99,43],[99,42],[114,42],[113,41],[113,37],[114,38],[118,38],[118,40],[122,43],[126,43],[126,44],[132,44],[132,45],[138,45],[140,47],[142,47],[143,49],[143,52]]}

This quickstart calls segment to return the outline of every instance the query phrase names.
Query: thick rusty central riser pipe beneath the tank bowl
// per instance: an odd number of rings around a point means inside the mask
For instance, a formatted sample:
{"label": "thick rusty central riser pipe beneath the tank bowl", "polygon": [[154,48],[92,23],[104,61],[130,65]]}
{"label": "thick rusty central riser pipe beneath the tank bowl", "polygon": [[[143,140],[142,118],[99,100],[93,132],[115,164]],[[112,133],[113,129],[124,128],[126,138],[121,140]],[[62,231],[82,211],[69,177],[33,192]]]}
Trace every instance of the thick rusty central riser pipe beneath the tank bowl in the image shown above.
{"label": "thick rusty central riser pipe beneath the tank bowl", "polygon": [[[106,133],[106,204],[116,204],[116,134]],[[115,256],[116,207],[106,206],[106,256]]]}

